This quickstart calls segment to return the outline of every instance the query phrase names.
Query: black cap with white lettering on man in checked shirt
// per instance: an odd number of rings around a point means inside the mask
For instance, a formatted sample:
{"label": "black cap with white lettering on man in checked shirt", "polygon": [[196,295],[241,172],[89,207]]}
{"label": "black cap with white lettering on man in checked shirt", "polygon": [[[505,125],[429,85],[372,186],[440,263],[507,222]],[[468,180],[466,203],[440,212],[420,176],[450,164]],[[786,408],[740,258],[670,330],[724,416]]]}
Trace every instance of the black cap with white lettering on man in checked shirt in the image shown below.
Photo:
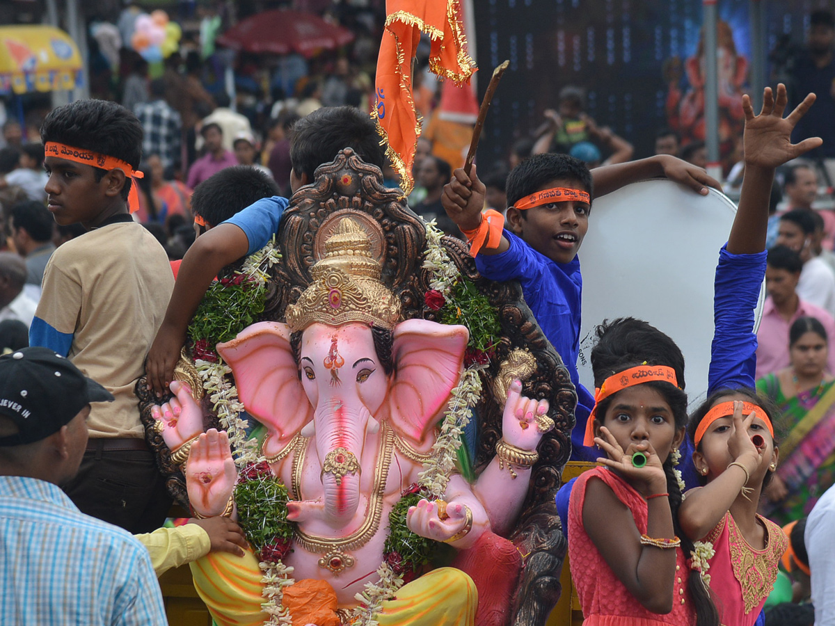
{"label": "black cap with white lettering on man in checked shirt", "polygon": [[17,434],[0,437],[0,446],[39,442],[61,430],[90,402],[113,400],[113,394],[48,348],[23,348],[0,356],[0,415],[18,427]]}

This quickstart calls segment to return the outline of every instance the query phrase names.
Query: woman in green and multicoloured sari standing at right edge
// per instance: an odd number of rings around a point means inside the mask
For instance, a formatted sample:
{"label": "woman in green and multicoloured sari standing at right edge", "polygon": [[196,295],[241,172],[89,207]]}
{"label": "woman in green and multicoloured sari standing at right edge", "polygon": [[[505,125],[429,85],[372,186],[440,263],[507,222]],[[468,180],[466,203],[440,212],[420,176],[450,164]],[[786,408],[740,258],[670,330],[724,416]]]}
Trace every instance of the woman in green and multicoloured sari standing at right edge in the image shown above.
{"label": "woman in green and multicoloured sari standing at right edge", "polygon": [[774,422],[780,462],[763,490],[762,513],[779,524],[807,515],[835,482],[835,380],[826,371],[827,332],[813,317],[789,331],[792,364],[762,377],[757,391],[782,410]]}

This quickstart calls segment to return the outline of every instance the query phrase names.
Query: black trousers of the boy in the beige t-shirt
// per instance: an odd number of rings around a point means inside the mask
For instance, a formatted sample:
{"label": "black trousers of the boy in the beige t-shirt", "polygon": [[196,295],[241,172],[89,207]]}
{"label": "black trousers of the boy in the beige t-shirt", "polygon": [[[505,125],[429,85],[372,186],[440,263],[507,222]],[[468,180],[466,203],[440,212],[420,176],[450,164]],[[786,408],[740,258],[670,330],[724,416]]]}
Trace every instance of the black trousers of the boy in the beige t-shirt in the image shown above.
{"label": "black trousers of the boy in the beige t-shirt", "polygon": [[62,488],[81,512],[134,534],[160,528],[172,501],[149,450],[88,449]]}

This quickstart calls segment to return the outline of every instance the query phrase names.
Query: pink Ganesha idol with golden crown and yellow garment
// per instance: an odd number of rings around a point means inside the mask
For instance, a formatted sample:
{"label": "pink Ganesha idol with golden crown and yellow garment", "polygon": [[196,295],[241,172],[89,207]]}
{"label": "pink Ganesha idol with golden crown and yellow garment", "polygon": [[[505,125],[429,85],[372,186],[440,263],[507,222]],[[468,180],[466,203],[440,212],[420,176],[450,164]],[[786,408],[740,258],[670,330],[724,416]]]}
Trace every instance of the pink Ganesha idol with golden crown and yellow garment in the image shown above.
{"label": "pink Ganesha idol with golden crown and yellow garment", "polygon": [[[342,219],[311,284],[287,307],[286,324],[254,324],[217,346],[246,410],[268,429],[261,452],[286,485],[286,519],[296,523],[274,582],[285,603],[265,605],[271,615],[262,610],[266,564],[260,568],[252,551],[243,558],[211,553],[192,564],[195,586],[219,624],[305,623],[291,617],[292,597],[326,605],[314,611],[318,626],[368,623],[363,610],[383,625],[473,623],[478,593],[468,574],[452,567],[402,588],[395,583],[395,598],[368,606],[375,598],[369,588],[392,572],[384,562],[394,533],[389,514],[439,453],[438,422],[462,378],[469,336],[465,326],[403,321],[400,300],[382,283],[369,250],[362,227]],[[177,450],[202,432],[203,421],[189,388],[171,387],[182,411],[164,439]],[[502,439],[478,479],[471,485],[449,472],[435,485],[440,497],[407,509],[398,537],[410,531],[467,550],[484,533],[509,533],[537,445],[554,426],[548,401],[530,400],[521,389],[518,380],[509,385]],[[225,433],[210,430],[195,440],[185,475],[197,514],[233,510],[239,477]]]}

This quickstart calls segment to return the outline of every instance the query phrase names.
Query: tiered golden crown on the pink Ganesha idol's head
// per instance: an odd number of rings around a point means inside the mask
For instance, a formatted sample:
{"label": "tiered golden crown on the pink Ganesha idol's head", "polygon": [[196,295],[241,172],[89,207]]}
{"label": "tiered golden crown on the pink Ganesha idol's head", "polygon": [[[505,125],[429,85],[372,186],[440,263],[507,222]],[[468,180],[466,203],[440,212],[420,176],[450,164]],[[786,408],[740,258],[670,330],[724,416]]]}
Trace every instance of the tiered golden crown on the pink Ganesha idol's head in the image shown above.
{"label": "tiered golden crown on the pink Ganesha idol's head", "polygon": [[310,286],[287,307],[291,331],[303,331],[315,322],[340,326],[357,321],[391,330],[400,321],[400,300],[382,284],[371,241],[354,220],[339,222],[312,274]]}

